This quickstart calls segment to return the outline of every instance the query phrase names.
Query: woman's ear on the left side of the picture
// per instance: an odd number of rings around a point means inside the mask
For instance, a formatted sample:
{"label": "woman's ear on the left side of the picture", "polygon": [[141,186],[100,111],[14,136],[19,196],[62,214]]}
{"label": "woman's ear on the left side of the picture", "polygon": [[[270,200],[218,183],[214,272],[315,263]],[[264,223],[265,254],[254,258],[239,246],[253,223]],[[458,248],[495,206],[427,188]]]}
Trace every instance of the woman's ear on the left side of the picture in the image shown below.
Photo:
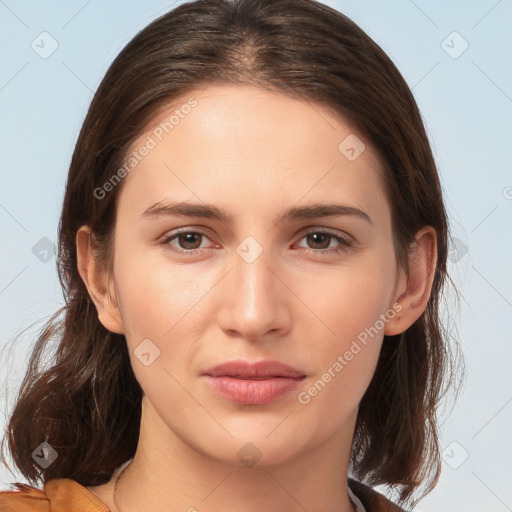
{"label": "woman's ear on the left side of the picture", "polygon": [[99,268],[91,244],[91,228],[82,226],[76,234],[78,272],[98,311],[98,319],[105,329],[124,334],[119,304],[110,289],[108,276]]}

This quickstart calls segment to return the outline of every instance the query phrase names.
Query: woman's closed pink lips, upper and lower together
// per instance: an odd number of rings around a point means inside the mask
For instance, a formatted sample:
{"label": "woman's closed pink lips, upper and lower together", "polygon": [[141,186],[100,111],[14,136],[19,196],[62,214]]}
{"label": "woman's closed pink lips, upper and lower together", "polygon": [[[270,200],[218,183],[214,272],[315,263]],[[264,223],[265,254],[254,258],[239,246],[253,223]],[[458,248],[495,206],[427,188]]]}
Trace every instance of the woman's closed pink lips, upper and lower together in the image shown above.
{"label": "woman's closed pink lips, upper and lower together", "polygon": [[303,372],[278,361],[231,361],[210,368],[203,377],[222,397],[249,405],[269,404],[306,378]]}

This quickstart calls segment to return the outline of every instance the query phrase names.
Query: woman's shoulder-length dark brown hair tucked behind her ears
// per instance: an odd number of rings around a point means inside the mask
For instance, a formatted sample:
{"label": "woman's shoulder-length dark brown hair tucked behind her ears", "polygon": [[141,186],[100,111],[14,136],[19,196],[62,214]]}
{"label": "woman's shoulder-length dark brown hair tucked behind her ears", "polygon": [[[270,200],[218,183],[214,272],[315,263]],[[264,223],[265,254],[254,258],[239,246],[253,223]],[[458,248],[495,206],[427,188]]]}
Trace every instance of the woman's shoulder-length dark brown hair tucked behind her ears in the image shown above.
{"label": "woman's shoulder-length dark brown hair tucked behind her ears", "polygon": [[[448,224],[436,164],[414,97],[384,51],[353,21],[314,0],[197,0],[140,31],[115,58],[81,128],[58,228],[57,269],[65,305],[39,333],[8,423],[14,463],[30,481],[107,482],[135,454],[143,392],[126,339],[105,329],[77,270],[76,234],[93,232],[105,272],[112,265],[123,181],[94,191],[122,167],[134,141],[175,98],[210,83],[249,84],[334,109],[377,150],[397,262],[424,226],[437,233],[437,266],[425,311],[385,336],[354,433],[351,472],[411,501],[437,483],[436,409],[453,365],[439,316],[447,276]],[[51,364],[45,349],[58,341]],[[43,441],[58,458],[40,468]],[[5,439],[2,442],[2,453]],[[5,459],[4,459],[5,460]]]}

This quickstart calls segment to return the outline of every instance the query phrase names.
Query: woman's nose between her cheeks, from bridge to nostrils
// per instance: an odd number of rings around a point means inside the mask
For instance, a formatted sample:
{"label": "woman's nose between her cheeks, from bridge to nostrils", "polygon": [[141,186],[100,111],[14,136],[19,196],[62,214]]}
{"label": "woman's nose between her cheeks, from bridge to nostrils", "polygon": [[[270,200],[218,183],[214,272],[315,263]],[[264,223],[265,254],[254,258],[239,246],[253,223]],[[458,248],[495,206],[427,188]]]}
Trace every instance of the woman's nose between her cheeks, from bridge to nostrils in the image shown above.
{"label": "woman's nose between her cheeks, from bridge to nostrils", "polygon": [[221,329],[251,341],[286,333],[291,324],[292,292],[284,284],[284,271],[271,251],[263,250],[254,261],[242,251],[234,252],[230,263],[231,270],[221,283]]}

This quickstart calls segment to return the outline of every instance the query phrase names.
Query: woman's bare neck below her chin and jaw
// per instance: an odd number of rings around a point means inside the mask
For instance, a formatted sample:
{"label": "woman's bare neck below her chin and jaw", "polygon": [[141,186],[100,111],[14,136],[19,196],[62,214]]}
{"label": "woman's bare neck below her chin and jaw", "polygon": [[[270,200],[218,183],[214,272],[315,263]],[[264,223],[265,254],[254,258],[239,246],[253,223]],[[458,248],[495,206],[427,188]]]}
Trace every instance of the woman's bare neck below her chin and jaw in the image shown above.
{"label": "woman's bare neck below her chin and jaw", "polygon": [[236,457],[213,459],[146,404],[137,451],[118,481],[115,502],[119,512],[353,512],[347,471],[355,415],[343,431],[293,460],[264,465],[262,457],[250,466]]}

